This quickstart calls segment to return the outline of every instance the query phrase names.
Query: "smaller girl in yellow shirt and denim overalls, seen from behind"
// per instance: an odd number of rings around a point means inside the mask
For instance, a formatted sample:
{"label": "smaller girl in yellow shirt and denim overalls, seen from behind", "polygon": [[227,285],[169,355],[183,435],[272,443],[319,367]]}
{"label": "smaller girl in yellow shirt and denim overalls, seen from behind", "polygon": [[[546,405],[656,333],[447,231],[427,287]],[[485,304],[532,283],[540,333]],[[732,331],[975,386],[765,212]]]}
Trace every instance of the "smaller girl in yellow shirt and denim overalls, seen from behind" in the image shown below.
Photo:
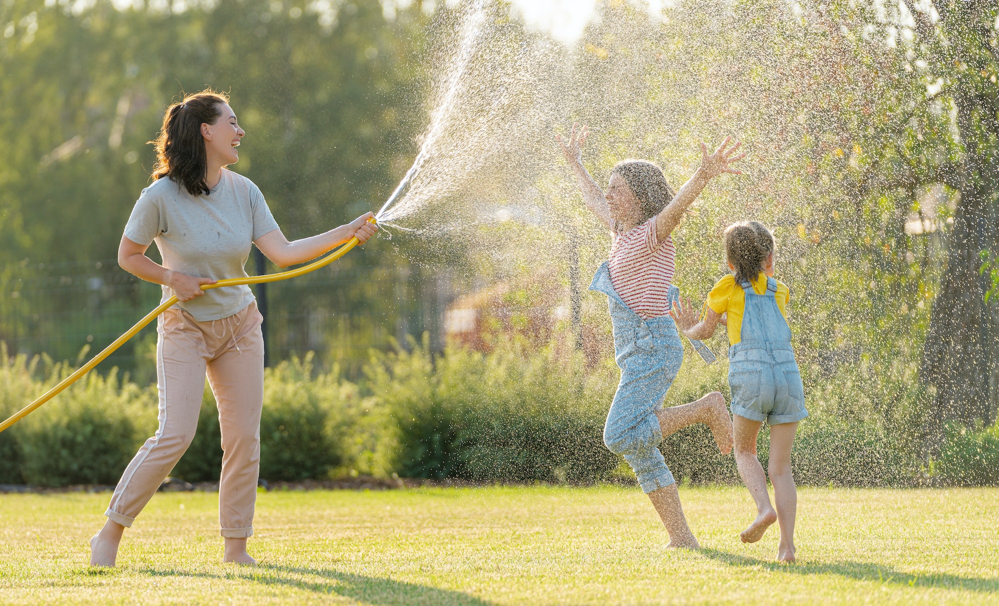
{"label": "smaller girl in yellow shirt and denim overalls, seen from behind", "polygon": [[[777,559],[794,560],[794,518],[797,489],[791,474],[791,445],[798,421],[808,415],[801,373],[791,347],[785,307],[787,287],[773,279],[773,235],[755,221],[725,230],[725,257],[733,274],[719,280],[707,297],[704,318],[689,301],[673,303],[680,332],[704,339],[727,314],[728,383],[732,390],[735,462],[756,502],[756,519],[739,537],[743,543],[762,538],[773,522],[780,523]],[[756,455],[760,426],[770,425],[770,481],[776,510],[770,504],[766,475]]]}

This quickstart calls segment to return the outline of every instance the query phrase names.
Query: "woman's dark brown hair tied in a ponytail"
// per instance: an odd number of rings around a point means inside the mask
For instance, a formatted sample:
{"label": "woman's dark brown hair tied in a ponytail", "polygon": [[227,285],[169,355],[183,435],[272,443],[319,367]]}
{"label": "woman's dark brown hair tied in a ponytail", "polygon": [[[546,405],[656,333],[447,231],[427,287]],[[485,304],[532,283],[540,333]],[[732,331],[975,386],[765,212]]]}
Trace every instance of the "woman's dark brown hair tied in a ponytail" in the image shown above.
{"label": "woman's dark brown hair tied in a ponytail", "polygon": [[229,103],[229,98],[205,89],[167,108],[160,134],[149,142],[156,146],[154,181],[170,177],[192,196],[211,192],[205,179],[208,156],[201,125],[218,122],[222,116],[219,106],[223,103]]}

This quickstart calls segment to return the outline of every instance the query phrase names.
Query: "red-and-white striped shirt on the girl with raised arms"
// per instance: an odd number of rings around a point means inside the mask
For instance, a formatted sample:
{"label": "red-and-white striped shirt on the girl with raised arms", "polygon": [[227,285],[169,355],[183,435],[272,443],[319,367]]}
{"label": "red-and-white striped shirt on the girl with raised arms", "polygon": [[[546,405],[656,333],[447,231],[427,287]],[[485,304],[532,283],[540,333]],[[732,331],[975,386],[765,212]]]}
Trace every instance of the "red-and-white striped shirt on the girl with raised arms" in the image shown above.
{"label": "red-and-white striped shirt on the girl with raised arms", "polygon": [[639,317],[665,315],[675,262],[673,239],[658,241],[653,217],[629,232],[614,234],[608,263],[610,284]]}

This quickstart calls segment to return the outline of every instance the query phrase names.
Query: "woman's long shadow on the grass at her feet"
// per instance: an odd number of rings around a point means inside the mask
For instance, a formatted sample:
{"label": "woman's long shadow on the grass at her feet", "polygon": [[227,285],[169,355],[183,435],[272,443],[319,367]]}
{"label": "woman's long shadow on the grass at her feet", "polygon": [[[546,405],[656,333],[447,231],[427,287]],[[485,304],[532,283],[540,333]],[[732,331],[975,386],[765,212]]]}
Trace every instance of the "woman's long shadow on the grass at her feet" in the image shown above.
{"label": "woman's long shadow on the grass at her feet", "polygon": [[[429,585],[396,581],[388,577],[365,576],[341,572],[333,568],[306,568],[301,566],[276,566],[258,564],[240,566],[230,573],[210,573],[202,571],[163,570],[147,568],[145,574],[152,576],[187,576],[214,579],[242,579],[264,585],[284,585],[327,595],[340,595],[367,604],[385,606],[428,604],[455,606],[493,606],[494,602],[475,596],[438,589]],[[312,577],[312,578],[309,578]]]}

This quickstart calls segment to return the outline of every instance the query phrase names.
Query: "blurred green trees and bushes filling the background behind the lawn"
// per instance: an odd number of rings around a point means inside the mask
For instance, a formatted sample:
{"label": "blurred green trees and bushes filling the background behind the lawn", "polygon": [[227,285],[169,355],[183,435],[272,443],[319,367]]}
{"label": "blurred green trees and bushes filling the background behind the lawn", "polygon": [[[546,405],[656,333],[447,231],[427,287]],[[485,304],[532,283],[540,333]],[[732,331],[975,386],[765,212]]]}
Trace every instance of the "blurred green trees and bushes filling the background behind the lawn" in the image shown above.
{"label": "blurred green trees and bushes filling the background behind the lawn", "polygon": [[[999,281],[999,7],[691,0],[650,16],[606,0],[563,48],[488,4],[504,48],[564,56],[531,91],[558,93],[556,111],[521,113],[544,137],[594,125],[584,160],[598,180],[631,156],[678,186],[698,139],[748,142],[746,175],[705,192],[677,231],[677,282],[703,297],[724,271],[728,223],[774,228],[812,412],[795,451],[803,482],[999,479],[999,306],[986,299]],[[182,91],[232,96],[248,133],[234,170],[286,235],[309,236],[379,208],[409,168],[459,11],[0,0],[0,413],[74,363],[52,360],[98,350],[158,300],[115,253],[149,182],[147,142]],[[532,144],[554,154],[540,135]],[[605,235],[554,156],[541,160],[484,165],[477,190],[452,195],[493,205],[474,240],[442,252],[379,238],[268,288],[264,477],[628,477],[599,443],[616,370],[605,303],[582,288]],[[557,229],[524,219],[531,204]],[[724,335],[711,345],[722,352]],[[0,482],[113,482],[155,424],[154,350],[147,328],[0,434]],[[724,384],[724,362],[687,359],[667,403]],[[218,473],[213,406],[206,393],[176,470],[192,481]],[[691,428],[663,444],[677,476],[733,480],[702,443]]]}

